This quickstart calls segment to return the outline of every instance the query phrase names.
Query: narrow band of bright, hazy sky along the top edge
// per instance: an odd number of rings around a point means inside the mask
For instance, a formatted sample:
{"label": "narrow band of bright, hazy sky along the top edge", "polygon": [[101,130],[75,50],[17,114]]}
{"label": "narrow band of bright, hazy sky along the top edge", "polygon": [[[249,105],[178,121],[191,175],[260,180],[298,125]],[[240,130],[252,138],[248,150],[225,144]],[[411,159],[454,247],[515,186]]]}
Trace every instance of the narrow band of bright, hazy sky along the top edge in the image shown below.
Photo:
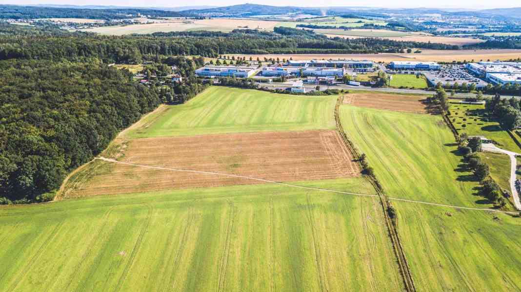
{"label": "narrow band of bright, hazy sky along the top edge", "polygon": [[[116,6],[140,6],[140,7],[179,7],[179,6],[194,6],[194,5],[212,5],[212,6],[228,6],[234,4],[243,4],[246,1],[238,0],[0,0],[2,4],[67,4],[67,5],[116,5]],[[381,0],[263,0],[252,1],[247,0],[247,3],[275,5],[275,6],[365,6],[365,7],[436,7],[436,8],[469,8],[469,9],[484,9],[484,8],[507,8],[507,7],[521,7],[519,0],[437,0],[434,2],[423,2],[417,0],[396,0],[382,2]]]}

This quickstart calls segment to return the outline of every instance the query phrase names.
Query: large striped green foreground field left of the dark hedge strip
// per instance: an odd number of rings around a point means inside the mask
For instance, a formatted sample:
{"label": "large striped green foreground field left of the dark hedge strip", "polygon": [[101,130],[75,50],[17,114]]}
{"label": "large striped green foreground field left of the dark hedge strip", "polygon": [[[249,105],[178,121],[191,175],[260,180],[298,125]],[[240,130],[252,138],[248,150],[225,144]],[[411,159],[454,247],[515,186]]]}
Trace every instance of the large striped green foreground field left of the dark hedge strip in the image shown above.
{"label": "large striped green foreground field left of the dark hedge strip", "polygon": [[[310,187],[374,193],[363,178]],[[403,291],[378,199],[274,184],[0,207],[5,291]]]}

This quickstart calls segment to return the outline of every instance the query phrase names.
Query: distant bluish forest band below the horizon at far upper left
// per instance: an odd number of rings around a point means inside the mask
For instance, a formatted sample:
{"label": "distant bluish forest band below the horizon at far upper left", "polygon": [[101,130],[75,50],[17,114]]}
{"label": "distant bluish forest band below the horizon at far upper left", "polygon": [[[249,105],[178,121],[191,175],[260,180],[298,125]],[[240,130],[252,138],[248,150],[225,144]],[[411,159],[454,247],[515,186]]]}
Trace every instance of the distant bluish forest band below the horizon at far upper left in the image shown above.
{"label": "distant bluish forest band below the horizon at far upper left", "polygon": [[78,9],[36,7],[18,5],[0,5],[0,19],[38,19],[38,18],[89,18],[89,19],[126,19],[148,15],[152,17],[183,17],[176,11],[155,9]]}

